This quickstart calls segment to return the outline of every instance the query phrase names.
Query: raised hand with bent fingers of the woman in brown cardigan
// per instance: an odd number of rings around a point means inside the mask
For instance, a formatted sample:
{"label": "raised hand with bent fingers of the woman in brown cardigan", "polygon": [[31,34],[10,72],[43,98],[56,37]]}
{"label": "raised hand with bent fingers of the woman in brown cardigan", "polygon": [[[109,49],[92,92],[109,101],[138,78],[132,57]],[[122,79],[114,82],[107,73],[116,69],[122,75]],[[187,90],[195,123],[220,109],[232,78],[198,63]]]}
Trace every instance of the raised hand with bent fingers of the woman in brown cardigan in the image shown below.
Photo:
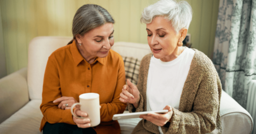
{"label": "raised hand with bent fingers of the woman in brown cardigan", "polygon": [[127,85],[123,86],[119,100],[121,102],[132,103],[135,108],[138,108],[139,106],[139,90],[137,86],[132,84],[129,79],[127,79]]}

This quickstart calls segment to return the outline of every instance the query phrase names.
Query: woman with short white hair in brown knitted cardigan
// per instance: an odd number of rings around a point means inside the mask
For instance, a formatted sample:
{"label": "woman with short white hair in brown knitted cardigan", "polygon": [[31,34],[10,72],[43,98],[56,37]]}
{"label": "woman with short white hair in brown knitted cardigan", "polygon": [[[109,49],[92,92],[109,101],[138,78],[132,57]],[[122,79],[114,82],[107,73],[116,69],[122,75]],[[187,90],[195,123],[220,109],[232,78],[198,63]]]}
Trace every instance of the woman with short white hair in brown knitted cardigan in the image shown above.
{"label": "woman with short white hair in brown knitted cardigan", "polygon": [[152,53],[140,64],[138,85],[127,80],[120,101],[130,112],[151,113],[133,133],[221,133],[221,82],[211,60],[196,49],[182,47],[192,18],[187,2],[161,0],[144,9]]}

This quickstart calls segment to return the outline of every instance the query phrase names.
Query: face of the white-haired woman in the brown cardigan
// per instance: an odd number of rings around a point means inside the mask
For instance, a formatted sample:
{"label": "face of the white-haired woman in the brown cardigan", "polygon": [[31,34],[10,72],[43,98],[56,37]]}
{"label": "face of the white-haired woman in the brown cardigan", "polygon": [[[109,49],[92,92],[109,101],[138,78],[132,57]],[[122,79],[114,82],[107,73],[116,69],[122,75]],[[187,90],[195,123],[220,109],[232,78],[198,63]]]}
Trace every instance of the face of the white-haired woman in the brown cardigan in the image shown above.
{"label": "face of the white-haired woman in the brown cardigan", "polygon": [[176,34],[170,21],[164,17],[155,17],[147,24],[147,42],[155,58],[169,61],[177,50],[180,33]]}

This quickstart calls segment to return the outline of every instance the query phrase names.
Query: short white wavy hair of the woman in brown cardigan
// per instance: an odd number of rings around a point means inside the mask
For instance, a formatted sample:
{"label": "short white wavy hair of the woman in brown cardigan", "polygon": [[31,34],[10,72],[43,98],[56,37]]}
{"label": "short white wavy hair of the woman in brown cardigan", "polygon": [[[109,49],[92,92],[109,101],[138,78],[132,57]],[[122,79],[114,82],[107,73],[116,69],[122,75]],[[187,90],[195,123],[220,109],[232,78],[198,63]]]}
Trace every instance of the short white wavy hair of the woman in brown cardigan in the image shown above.
{"label": "short white wavy hair of the woman in brown cardigan", "polygon": [[178,34],[182,28],[188,29],[192,20],[192,8],[186,1],[160,0],[144,9],[140,22],[150,24],[157,16],[169,20]]}

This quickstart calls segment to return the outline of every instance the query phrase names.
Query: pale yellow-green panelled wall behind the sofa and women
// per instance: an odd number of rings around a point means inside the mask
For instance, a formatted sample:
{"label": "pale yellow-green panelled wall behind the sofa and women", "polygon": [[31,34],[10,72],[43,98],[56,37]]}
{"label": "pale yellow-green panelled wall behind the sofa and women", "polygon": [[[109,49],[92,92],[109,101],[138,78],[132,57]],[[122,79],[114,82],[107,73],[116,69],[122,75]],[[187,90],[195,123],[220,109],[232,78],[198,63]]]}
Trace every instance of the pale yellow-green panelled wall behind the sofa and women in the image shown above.
{"label": "pale yellow-green panelled wall behind the sofa and women", "polygon": [[[81,5],[103,6],[116,20],[115,41],[147,43],[143,9],[157,0],[0,0],[8,74],[27,66],[27,48],[35,36],[72,36],[72,19]],[[188,33],[194,48],[211,57],[219,0],[187,0],[193,9]]]}

